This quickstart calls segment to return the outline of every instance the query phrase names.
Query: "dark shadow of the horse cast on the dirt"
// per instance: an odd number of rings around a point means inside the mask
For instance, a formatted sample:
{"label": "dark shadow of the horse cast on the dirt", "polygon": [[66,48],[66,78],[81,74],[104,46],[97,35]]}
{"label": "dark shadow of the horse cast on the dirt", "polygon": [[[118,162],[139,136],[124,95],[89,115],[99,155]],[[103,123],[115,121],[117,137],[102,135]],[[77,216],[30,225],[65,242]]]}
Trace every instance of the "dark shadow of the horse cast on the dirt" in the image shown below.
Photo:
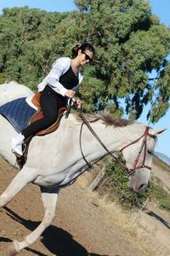
{"label": "dark shadow of the horse cast on the dirt", "polygon": [[[4,207],[4,210],[8,217],[13,218],[20,224],[23,224],[28,230],[33,231],[40,224],[40,222],[32,222],[31,220],[21,218],[17,213],[13,212],[8,207]],[[11,240],[0,237],[0,241],[9,242]],[[47,247],[50,253],[57,256],[109,256],[106,254],[101,255],[96,253],[88,253],[86,248],[82,247],[80,243],[75,241],[69,232],[57,228],[54,225],[49,226],[48,229],[42,233],[42,243],[45,247]],[[29,247],[27,247],[26,250],[34,253],[35,255],[48,256]]]}

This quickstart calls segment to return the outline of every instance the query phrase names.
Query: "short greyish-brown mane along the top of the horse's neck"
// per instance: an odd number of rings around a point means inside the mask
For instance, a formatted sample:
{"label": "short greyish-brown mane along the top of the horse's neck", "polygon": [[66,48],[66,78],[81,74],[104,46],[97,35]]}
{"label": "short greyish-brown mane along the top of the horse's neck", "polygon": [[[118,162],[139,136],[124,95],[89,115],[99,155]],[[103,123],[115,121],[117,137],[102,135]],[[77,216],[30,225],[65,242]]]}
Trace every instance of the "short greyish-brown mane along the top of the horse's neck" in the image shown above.
{"label": "short greyish-brown mane along the top of the horse's neck", "polygon": [[[88,120],[88,122],[96,122],[98,120],[103,121],[105,125],[113,125],[115,127],[124,127],[127,125],[132,125],[134,123],[133,120],[127,119],[116,119],[111,116],[110,112],[101,112],[101,113],[83,113],[84,117]],[[82,118],[80,114],[76,115],[76,119],[79,122],[82,122]]]}

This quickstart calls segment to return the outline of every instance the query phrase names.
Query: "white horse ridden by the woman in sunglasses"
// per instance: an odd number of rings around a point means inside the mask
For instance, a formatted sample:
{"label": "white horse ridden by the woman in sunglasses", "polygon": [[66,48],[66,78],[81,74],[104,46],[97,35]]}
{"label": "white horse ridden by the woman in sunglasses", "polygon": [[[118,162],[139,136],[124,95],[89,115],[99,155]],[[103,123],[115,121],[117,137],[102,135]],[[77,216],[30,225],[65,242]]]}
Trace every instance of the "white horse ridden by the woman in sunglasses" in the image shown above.
{"label": "white horse ridden by the woman in sunglasses", "polygon": [[[0,85],[0,106],[21,96],[33,96],[33,93],[26,86],[14,82]],[[10,244],[9,256],[29,247],[52,224],[60,186],[72,183],[86,166],[79,144],[81,125],[82,121],[70,114],[68,119],[61,120],[57,131],[44,137],[33,137],[25,166],[0,196],[0,207],[4,207],[28,183],[35,183],[41,189],[45,211],[42,223],[36,230],[23,241],[13,241]],[[129,177],[129,188],[136,192],[146,188],[150,179],[156,136],[164,130],[154,131],[149,127],[149,131],[146,131],[143,124],[129,121],[122,124],[122,120],[117,125],[117,122],[105,115],[99,116],[90,125],[109,152],[122,150],[127,169],[134,171]],[[16,134],[13,126],[0,115],[0,154],[13,166],[15,156],[11,152],[11,138]],[[86,125],[82,129],[82,151],[88,162],[98,160],[106,153]]]}

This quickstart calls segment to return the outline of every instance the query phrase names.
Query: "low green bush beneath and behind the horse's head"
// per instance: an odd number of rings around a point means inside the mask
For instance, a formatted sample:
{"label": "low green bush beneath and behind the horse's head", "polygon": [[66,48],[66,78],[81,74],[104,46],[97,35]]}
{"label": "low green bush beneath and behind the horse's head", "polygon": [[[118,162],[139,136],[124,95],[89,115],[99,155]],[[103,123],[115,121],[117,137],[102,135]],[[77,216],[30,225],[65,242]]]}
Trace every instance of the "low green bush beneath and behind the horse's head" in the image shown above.
{"label": "low green bush beneath and behind the horse's head", "polygon": [[[169,171],[169,166],[154,156],[154,164],[163,170]],[[170,211],[170,195],[163,189],[161,180],[157,177],[150,178],[150,186],[139,193],[130,191],[127,187],[128,177],[122,166],[106,158],[103,162],[105,165],[105,178],[99,183],[99,195],[108,195],[111,201],[117,201],[126,210],[134,207],[140,208],[144,201],[150,196],[152,201],[156,201],[164,210]],[[166,171],[165,171],[166,172]]]}

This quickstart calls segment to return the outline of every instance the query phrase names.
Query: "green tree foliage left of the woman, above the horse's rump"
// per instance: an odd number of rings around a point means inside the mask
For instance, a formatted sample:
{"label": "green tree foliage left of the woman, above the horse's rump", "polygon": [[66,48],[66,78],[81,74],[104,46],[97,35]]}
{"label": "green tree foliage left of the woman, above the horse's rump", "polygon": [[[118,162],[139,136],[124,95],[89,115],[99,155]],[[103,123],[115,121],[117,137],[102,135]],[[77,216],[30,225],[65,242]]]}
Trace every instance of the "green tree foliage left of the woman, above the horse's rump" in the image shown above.
{"label": "green tree foliage left of the woman, above the horse's rump", "polygon": [[55,26],[66,13],[40,9],[3,9],[0,15],[0,68],[6,79],[37,88],[57,56]]}

